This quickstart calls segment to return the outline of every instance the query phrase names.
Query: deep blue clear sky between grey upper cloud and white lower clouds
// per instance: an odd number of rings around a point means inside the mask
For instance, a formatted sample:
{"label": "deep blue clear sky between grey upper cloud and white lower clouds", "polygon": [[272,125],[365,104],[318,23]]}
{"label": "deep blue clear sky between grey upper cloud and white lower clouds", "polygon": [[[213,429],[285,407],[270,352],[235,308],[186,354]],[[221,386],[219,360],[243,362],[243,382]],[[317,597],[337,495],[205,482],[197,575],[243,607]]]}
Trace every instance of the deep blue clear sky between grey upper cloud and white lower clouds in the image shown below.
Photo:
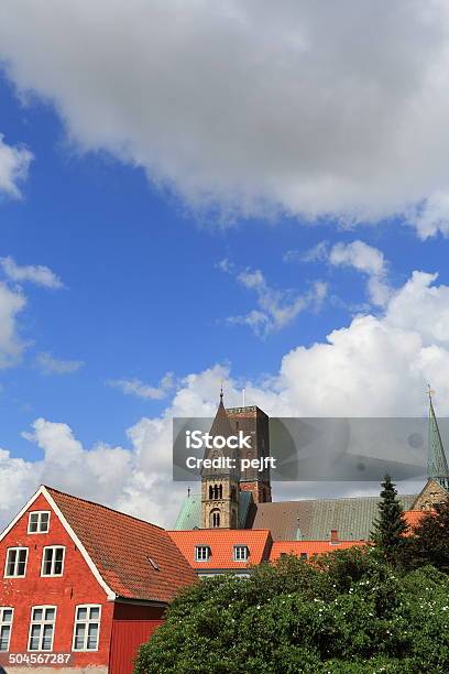
{"label": "deep blue clear sky between grey upper cloud and white lower clouds", "polygon": [[[20,432],[36,416],[64,420],[86,444],[116,444],[124,442],[124,428],[164,404],[123,395],[109,380],[156,385],[167,371],[182,378],[228,361],[236,377],[258,380],[274,374],[291,349],[347,325],[351,306],[366,302],[360,274],[322,261],[286,262],[288,251],[361,238],[384,252],[397,286],[414,269],[439,271],[448,281],[447,243],[423,242],[399,220],[361,231],[282,216],[222,226],[213,216],[189,214],[152,187],[142,170],[106,153],[77,155],[52,107],[39,100],[23,107],[4,76],[0,96],[6,140],[25,143],[35,156],[23,198],[1,205],[1,254],[21,265],[47,265],[66,286],[28,289],[20,324],[33,344],[18,367],[2,373],[2,443],[20,455],[35,455]],[[255,297],[217,269],[225,258],[240,270],[260,269],[283,291],[300,294],[311,281],[326,281],[348,308],[327,302],[261,338],[248,326],[227,324],[250,312]],[[42,351],[86,365],[68,376],[42,374],[33,362]]]}

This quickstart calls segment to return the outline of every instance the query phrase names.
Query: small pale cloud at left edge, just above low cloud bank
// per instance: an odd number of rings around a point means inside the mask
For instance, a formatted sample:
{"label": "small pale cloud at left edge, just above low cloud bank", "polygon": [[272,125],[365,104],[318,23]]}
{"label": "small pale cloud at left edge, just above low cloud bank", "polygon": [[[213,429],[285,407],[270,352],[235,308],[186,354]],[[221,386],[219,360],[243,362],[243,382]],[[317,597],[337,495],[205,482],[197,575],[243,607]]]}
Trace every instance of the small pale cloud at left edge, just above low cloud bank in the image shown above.
{"label": "small pale cloud at left edge, just above low cloud bank", "polygon": [[25,304],[20,290],[0,282],[0,369],[14,365],[25,348],[18,334],[18,315]]}

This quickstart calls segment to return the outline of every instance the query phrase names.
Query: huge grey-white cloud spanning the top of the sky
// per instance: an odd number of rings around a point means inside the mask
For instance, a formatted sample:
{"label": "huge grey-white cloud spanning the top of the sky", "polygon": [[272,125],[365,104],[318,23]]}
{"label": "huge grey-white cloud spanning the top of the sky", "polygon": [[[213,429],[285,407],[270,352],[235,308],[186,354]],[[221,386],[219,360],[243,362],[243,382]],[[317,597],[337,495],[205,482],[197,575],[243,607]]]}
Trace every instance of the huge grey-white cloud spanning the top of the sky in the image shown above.
{"label": "huge grey-white cloud spanning the top of the sky", "polygon": [[195,207],[415,222],[424,206],[423,236],[448,231],[448,36],[445,0],[0,7],[10,77],[81,150]]}

